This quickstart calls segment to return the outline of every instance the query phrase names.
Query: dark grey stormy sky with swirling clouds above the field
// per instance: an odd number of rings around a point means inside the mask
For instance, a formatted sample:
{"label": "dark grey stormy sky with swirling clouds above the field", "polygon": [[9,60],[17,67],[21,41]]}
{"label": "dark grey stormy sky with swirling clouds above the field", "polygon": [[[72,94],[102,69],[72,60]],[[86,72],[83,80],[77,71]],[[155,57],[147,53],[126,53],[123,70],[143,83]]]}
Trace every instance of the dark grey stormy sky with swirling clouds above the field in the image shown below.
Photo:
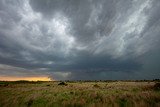
{"label": "dark grey stormy sky with swirling clouds above the field", "polygon": [[160,78],[160,0],[0,0],[0,78]]}

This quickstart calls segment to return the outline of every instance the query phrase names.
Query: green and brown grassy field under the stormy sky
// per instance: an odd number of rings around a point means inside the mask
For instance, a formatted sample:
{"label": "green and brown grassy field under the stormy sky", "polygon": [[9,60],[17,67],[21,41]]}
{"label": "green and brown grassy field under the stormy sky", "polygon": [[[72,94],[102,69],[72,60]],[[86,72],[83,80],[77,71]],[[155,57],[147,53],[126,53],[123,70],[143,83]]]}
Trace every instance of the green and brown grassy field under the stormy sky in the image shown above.
{"label": "green and brown grassy field under the stormy sky", "polygon": [[0,107],[160,107],[157,84],[1,81]]}

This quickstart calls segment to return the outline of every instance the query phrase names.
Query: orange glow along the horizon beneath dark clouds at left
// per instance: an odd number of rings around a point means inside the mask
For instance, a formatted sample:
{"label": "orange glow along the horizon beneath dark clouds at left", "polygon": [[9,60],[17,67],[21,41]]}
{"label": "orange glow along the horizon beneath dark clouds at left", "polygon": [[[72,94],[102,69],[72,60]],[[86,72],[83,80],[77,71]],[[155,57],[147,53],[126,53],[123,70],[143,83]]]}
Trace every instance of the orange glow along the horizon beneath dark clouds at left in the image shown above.
{"label": "orange glow along the horizon beneath dark clouds at left", "polygon": [[16,76],[0,76],[0,81],[51,81],[51,78],[47,76],[34,76],[34,77],[16,77]]}

